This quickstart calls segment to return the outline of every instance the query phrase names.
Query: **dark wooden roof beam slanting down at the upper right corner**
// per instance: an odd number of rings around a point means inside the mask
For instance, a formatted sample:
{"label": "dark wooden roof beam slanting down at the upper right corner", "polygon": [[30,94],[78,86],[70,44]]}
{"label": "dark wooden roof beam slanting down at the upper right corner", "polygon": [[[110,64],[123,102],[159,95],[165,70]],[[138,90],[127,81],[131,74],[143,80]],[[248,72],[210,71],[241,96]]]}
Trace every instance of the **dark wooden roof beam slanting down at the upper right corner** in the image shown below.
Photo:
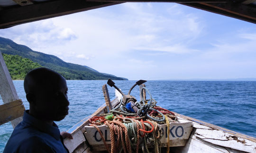
{"label": "dark wooden roof beam slanting down at the upper right corner", "polygon": [[241,3],[180,3],[256,24],[256,8]]}

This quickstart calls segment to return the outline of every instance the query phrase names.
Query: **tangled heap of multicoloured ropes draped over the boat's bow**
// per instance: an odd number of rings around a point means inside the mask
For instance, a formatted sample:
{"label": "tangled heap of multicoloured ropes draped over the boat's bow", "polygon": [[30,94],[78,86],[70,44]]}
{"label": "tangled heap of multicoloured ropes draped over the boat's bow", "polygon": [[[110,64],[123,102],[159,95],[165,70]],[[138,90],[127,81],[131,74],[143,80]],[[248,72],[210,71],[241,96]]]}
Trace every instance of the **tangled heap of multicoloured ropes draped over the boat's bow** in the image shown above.
{"label": "tangled heap of multicoloured ropes draped over the boat's bow", "polygon": [[[154,152],[160,153],[160,140],[164,135],[164,130],[160,124],[167,124],[167,153],[169,153],[170,132],[168,131],[170,131],[170,123],[168,118],[175,122],[176,117],[170,110],[156,106],[155,99],[152,98],[152,95],[145,87],[141,89],[140,97],[143,97],[143,90],[146,90],[150,99],[141,98],[140,102],[135,103],[139,109],[137,114],[128,110],[121,99],[119,105],[110,110],[110,113],[89,119],[90,125],[95,127],[101,135],[109,153],[138,153],[139,146],[141,146],[143,153],[149,153],[148,145],[154,145]],[[110,128],[111,148],[106,144],[101,130],[97,127],[103,124]],[[140,138],[143,141],[140,141]]]}

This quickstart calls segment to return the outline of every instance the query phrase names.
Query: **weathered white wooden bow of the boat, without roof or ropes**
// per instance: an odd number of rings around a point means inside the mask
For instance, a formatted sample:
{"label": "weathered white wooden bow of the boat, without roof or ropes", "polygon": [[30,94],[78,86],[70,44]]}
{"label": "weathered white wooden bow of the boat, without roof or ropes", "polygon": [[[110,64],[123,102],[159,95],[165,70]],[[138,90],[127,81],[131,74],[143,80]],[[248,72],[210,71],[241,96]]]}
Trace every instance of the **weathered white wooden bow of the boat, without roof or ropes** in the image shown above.
{"label": "weathered white wooden bow of the boat, without roof or ropes", "polygon": [[[94,116],[107,113],[111,106],[116,106],[121,99],[116,91],[116,97],[109,100],[108,89],[103,85],[106,104],[103,104],[91,116],[81,120],[68,132],[72,133],[73,140],[65,139],[64,143],[72,153],[91,153],[106,151],[106,147],[95,127],[89,126]],[[218,127],[198,119],[193,119],[175,113],[178,122],[170,123],[170,150],[172,153],[256,153],[256,138],[239,134],[235,131]],[[165,129],[166,124],[161,125]],[[99,126],[103,137],[110,144],[109,127]],[[166,152],[167,136],[161,140],[162,152]]]}

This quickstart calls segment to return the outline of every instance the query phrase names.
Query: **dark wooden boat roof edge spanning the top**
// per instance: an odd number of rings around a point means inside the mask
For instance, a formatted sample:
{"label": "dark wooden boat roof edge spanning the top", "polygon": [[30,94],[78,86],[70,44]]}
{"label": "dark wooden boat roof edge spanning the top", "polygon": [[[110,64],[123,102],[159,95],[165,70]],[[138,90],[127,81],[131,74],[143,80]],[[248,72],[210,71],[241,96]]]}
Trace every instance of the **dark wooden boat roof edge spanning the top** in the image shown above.
{"label": "dark wooden boat roof edge spanning the top", "polygon": [[256,24],[256,0],[0,0],[0,29],[124,2],[175,2]]}

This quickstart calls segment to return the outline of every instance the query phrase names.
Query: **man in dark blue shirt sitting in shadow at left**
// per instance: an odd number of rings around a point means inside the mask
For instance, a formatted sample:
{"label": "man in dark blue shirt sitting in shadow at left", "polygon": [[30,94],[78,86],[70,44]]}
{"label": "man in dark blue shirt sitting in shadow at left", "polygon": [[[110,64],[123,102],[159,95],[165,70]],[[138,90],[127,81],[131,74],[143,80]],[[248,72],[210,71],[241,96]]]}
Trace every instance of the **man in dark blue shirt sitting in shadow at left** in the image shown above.
{"label": "man in dark blue shirt sitting in shadow at left", "polygon": [[68,114],[67,84],[63,76],[48,68],[36,68],[27,73],[24,89],[29,110],[14,128],[3,153],[69,153],[54,121]]}

